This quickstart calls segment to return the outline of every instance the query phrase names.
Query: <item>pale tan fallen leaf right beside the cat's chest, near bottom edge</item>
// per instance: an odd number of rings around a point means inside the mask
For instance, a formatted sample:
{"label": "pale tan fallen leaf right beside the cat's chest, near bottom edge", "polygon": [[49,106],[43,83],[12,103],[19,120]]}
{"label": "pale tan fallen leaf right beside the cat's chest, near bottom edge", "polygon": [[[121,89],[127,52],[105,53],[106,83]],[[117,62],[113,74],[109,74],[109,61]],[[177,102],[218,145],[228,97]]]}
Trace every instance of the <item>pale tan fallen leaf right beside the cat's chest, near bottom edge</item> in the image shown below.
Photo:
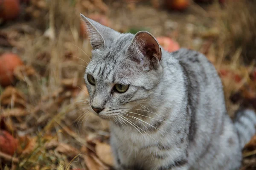
{"label": "pale tan fallen leaf right beside the cat's chest, near bottom edge", "polygon": [[113,154],[109,144],[97,142],[95,146],[97,156],[109,166],[113,166]]}

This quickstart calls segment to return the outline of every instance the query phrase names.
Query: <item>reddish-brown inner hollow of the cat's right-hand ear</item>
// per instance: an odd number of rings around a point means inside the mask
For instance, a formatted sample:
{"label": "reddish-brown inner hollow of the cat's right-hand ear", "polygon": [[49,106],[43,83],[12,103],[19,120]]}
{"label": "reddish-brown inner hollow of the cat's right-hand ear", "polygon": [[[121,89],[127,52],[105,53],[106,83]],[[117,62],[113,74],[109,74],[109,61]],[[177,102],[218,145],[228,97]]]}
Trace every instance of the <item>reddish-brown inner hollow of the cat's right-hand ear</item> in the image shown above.
{"label": "reddish-brown inner hollow of the cat's right-hand ear", "polygon": [[140,31],[136,34],[136,41],[139,42],[140,50],[149,59],[156,57],[161,60],[162,51],[157,40],[147,31]]}

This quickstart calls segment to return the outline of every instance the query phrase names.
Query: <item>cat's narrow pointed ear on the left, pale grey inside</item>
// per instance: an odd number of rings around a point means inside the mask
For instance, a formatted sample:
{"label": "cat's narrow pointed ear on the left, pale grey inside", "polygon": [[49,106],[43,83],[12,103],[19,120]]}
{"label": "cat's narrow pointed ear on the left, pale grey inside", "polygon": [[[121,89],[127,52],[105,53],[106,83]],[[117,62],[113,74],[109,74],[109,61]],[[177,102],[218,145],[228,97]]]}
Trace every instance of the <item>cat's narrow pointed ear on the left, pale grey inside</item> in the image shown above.
{"label": "cat's narrow pointed ear on the left, pale grey inside", "polygon": [[83,14],[80,14],[80,17],[82,19],[82,23],[87,28],[87,35],[90,37],[90,43],[93,49],[100,48],[104,46],[105,40],[104,36],[102,36],[103,31],[105,31],[108,27],[102,26],[100,23],[91,20],[87,17],[84,17]]}

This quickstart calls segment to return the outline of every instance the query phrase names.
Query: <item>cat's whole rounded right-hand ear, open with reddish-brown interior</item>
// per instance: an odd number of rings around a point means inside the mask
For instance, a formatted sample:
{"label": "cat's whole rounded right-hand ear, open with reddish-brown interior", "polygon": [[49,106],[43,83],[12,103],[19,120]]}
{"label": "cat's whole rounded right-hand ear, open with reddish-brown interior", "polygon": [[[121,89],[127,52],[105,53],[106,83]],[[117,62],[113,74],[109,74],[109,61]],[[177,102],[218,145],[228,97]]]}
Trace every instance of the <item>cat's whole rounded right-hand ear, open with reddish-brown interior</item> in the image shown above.
{"label": "cat's whole rounded right-hand ear, open with reddish-brown interior", "polygon": [[135,34],[131,45],[128,47],[128,53],[140,62],[143,62],[144,59],[150,59],[154,64],[158,64],[162,58],[159,43],[147,31],[139,31]]}

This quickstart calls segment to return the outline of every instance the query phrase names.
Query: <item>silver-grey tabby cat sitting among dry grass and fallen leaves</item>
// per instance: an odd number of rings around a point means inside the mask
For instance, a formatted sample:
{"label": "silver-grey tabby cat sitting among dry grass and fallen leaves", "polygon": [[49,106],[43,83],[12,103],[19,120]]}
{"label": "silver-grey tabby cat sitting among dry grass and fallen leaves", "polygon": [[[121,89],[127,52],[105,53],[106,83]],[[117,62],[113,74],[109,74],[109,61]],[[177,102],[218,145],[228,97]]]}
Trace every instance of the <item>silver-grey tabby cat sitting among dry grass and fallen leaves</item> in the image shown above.
{"label": "silver-grey tabby cat sitting among dry grass and fallen leaves", "polygon": [[90,105],[111,121],[117,170],[236,170],[256,114],[233,123],[215,67],[196,51],[169,53],[147,31],[121,34],[84,17],[93,48]]}

